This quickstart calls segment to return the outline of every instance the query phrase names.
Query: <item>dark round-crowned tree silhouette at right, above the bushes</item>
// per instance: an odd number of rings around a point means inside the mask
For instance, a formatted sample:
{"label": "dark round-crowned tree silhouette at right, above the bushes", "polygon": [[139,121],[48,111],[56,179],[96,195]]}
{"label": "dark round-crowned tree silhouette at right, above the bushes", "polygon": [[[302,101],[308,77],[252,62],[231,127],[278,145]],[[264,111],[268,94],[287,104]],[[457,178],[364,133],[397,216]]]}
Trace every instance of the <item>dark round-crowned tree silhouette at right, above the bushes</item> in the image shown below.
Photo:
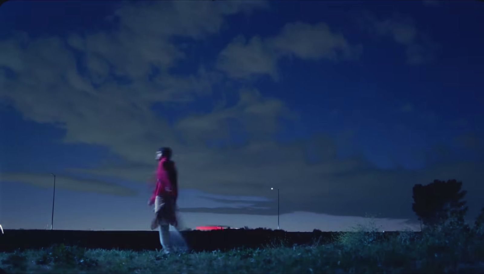
{"label": "dark round-crowned tree silhouette at right, above the bushes", "polygon": [[413,186],[412,210],[424,225],[434,226],[443,223],[451,216],[463,222],[468,207],[461,201],[467,191],[461,191],[462,182],[455,179],[434,180],[428,185]]}

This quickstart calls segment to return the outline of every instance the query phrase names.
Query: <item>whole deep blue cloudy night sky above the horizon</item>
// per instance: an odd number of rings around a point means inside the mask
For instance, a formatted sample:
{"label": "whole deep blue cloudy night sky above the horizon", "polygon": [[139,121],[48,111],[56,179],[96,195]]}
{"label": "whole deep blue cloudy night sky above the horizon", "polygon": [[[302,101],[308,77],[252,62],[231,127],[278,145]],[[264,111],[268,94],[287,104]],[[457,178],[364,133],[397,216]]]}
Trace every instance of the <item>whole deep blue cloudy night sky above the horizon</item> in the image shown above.
{"label": "whole deep blue cloudy night sky above the horizon", "polygon": [[185,227],[420,229],[412,187],[484,206],[482,1],[8,1],[0,224],[149,230],[173,149]]}

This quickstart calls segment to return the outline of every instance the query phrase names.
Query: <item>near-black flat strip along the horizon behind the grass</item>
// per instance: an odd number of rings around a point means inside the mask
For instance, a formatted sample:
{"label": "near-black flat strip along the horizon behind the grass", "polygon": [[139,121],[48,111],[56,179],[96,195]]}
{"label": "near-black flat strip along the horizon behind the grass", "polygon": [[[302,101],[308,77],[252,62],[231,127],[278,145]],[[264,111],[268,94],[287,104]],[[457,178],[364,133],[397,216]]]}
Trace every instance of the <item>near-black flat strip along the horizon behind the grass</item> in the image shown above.
{"label": "near-black flat strip along the horizon behind the grass", "polygon": [[[395,232],[381,233],[391,235]],[[228,250],[238,247],[329,243],[338,232],[286,232],[270,229],[182,231],[181,235],[194,251]],[[73,230],[6,230],[0,240],[0,251],[43,248],[64,244],[86,248],[155,250],[161,249],[156,231],[73,231]]]}

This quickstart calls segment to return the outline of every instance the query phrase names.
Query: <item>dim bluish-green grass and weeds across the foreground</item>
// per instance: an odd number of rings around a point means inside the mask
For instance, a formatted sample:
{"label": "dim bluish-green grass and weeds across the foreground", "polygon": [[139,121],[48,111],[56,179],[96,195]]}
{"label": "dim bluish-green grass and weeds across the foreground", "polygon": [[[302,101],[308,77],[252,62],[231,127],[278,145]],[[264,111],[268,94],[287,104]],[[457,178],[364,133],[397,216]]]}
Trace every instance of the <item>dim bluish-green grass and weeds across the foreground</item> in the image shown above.
{"label": "dim bluish-green grass and weeds across the foreground", "polygon": [[378,235],[360,230],[325,245],[280,243],[170,255],[60,245],[0,253],[0,268],[7,273],[484,273],[481,227],[451,223],[420,235]]}

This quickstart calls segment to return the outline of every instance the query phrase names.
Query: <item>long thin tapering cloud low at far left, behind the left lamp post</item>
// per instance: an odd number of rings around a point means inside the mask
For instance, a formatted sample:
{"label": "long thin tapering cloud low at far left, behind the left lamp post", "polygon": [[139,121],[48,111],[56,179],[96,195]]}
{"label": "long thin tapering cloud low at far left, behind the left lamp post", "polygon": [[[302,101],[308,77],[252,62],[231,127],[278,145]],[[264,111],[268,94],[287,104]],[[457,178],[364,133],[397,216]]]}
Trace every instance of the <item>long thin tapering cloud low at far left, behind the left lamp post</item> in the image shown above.
{"label": "long thin tapering cloud low at far left, behind the left lamp post", "polygon": [[[0,181],[28,183],[31,185],[52,188],[53,177],[46,173],[2,173]],[[66,175],[56,175],[56,187],[79,192],[95,192],[120,196],[134,196],[136,191],[113,183],[94,179],[75,178]]]}

